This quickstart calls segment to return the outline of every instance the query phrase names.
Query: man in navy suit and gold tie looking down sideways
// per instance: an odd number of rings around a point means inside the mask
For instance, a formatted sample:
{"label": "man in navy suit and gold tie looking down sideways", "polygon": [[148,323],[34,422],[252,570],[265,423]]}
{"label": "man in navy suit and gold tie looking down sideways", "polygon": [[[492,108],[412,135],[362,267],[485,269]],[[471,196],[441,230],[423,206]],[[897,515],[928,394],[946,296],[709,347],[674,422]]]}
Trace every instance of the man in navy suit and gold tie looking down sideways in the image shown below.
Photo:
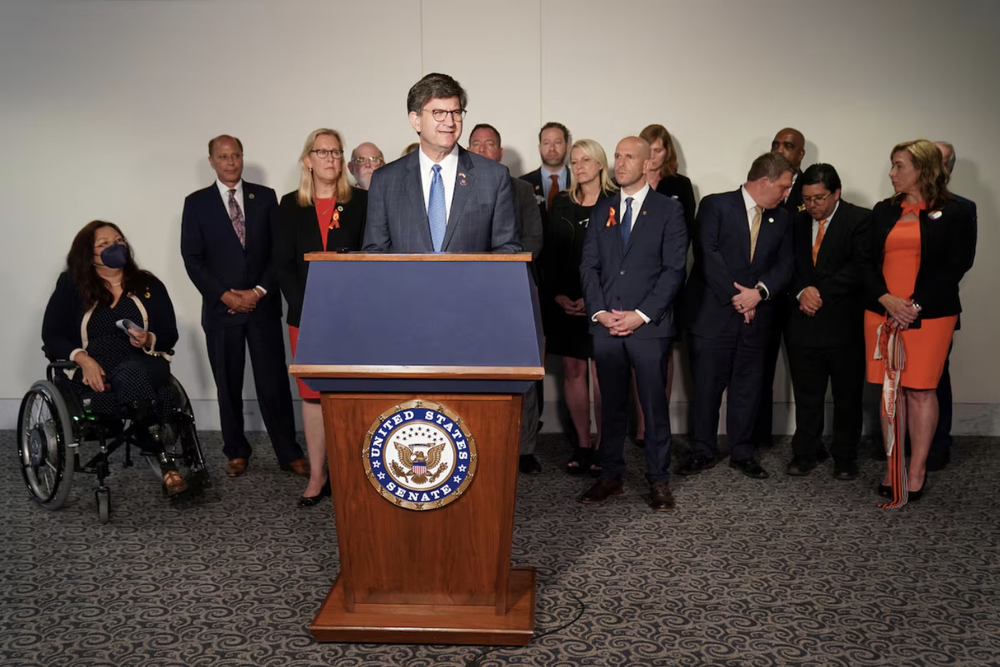
{"label": "man in navy suit and gold tie looking down sideways", "polygon": [[698,207],[684,297],[694,378],[691,452],[679,474],[715,465],[719,406],[728,386],[729,464],[750,477],[767,477],[754,459],[751,435],[775,301],[792,277],[791,216],[781,207],[791,186],[788,160],[765,153],[739,190],[709,195]]}

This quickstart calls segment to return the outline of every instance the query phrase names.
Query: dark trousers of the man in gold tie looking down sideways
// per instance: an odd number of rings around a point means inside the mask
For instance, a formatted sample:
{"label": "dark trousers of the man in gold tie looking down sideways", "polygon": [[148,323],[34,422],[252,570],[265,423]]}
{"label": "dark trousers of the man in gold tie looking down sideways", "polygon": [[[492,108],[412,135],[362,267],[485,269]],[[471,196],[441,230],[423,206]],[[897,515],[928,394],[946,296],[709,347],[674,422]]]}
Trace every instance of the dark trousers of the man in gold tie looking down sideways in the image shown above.
{"label": "dark trousers of the man in gold tie looking down sideways", "polygon": [[726,405],[726,433],[729,456],[745,461],[753,456],[751,439],[761,395],[764,347],[760,336],[740,324],[718,336],[705,338],[691,334],[688,350],[694,396],[691,400],[691,453],[718,457],[719,407],[722,392],[729,388]]}

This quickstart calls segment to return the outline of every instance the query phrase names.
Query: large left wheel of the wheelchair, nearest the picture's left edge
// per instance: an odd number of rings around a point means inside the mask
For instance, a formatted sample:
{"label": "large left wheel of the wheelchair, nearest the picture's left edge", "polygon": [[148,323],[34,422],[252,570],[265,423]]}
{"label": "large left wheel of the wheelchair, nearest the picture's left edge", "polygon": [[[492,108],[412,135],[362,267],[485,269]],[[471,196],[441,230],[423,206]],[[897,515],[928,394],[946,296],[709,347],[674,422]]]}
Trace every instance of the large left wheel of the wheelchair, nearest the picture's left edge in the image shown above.
{"label": "large left wheel of the wheelchair, nearest the picture's left edge", "polygon": [[21,401],[17,443],[32,500],[49,510],[62,507],[73,482],[76,439],[66,401],[51,382],[36,382]]}

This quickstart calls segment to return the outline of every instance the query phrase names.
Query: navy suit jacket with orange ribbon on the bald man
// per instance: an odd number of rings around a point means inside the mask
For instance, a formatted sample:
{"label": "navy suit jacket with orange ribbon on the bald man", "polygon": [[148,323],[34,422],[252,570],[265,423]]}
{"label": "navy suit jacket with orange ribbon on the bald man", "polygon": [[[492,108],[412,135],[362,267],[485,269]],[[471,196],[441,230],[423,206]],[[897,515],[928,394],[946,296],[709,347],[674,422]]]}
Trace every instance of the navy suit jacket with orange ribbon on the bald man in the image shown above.
{"label": "navy suit jacket with orange ribbon on the bald man", "polygon": [[608,197],[590,210],[580,261],[590,331],[595,336],[611,335],[606,327],[593,322],[599,311],[641,310],[650,322],[636,329],[636,338],[676,336],[674,297],[684,284],[687,260],[684,209],[650,190],[642,208],[633,210],[632,233],[623,249],[621,229],[607,224],[612,218],[621,220],[621,202],[622,196]]}

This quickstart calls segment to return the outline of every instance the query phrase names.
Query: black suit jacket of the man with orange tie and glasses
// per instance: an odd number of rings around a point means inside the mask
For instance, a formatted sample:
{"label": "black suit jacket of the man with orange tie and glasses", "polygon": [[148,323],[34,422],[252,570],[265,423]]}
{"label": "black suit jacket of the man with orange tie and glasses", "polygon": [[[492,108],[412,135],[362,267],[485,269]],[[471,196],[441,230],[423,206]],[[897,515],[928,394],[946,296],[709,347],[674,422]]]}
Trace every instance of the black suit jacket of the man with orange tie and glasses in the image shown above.
{"label": "black suit jacket of the man with orange tie and glasses", "polygon": [[[816,265],[812,263],[812,216],[803,211],[792,220],[795,273],[786,335],[801,347],[841,347],[864,342],[864,264],[870,209],[840,201],[823,235]],[[823,306],[816,315],[799,310],[796,296],[806,287],[819,290]]]}

